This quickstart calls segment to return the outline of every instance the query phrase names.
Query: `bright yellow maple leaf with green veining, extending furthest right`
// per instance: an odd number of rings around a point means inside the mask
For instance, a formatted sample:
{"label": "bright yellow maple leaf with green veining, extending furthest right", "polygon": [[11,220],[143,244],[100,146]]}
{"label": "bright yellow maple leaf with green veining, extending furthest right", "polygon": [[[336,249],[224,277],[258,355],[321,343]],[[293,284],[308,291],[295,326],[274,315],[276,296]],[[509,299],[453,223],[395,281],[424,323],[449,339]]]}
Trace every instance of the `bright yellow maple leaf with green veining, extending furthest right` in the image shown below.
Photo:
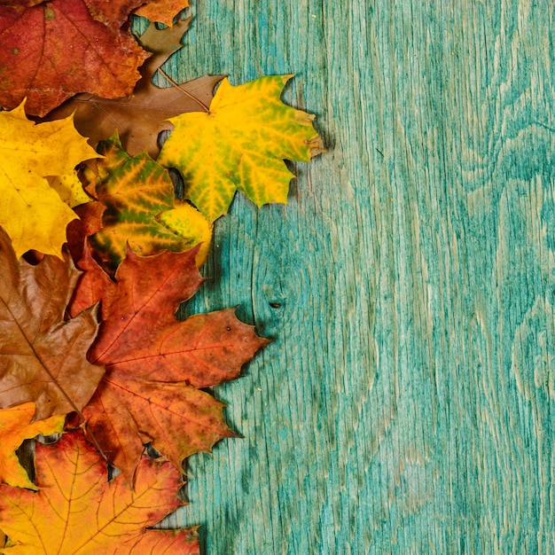
{"label": "bright yellow maple leaf with green veining, extending furthest right", "polygon": [[227,212],[236,190],[259,207],[286,203],[294,175],[284,160],[309,161],[323,152],[314,116],[280,100],[292,76],[262,77],[238,87],[224,79],[209,111],[170,118],[175,129],[158,162],[179,169],[185,198],[208,220]]}

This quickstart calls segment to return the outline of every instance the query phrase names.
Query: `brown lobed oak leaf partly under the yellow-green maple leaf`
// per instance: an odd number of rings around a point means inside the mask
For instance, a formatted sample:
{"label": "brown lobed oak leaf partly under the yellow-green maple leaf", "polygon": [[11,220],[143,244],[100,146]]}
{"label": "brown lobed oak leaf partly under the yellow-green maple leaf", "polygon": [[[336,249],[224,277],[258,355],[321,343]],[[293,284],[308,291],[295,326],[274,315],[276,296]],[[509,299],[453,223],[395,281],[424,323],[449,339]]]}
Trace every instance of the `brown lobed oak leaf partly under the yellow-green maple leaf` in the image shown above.
{"label": "brown lobed oak leaf partly under the yellow-green maple leaf", "polygon": [[107,99],[91,94],[70,98],[49,113],[46,120],[56,120],[74,113],[75,127],[90,145],[113,136],[117,130],[121,145],[131,155],[148,152],[155,158],[160,152],[160,131],[172,129],[168,118],[179,113],[197,110],[199,102],[205,104],[212,98],[215,83],[222,78],[205,76],[192,82],[160,88],[152,83],[152,76],[168,59],[182,48],[180,39],[189,27],[190,20],[182,20],[174,27],[157,29],[150,25],[138,39],[152,57],[141,66],[142,78],[129,98]]}

